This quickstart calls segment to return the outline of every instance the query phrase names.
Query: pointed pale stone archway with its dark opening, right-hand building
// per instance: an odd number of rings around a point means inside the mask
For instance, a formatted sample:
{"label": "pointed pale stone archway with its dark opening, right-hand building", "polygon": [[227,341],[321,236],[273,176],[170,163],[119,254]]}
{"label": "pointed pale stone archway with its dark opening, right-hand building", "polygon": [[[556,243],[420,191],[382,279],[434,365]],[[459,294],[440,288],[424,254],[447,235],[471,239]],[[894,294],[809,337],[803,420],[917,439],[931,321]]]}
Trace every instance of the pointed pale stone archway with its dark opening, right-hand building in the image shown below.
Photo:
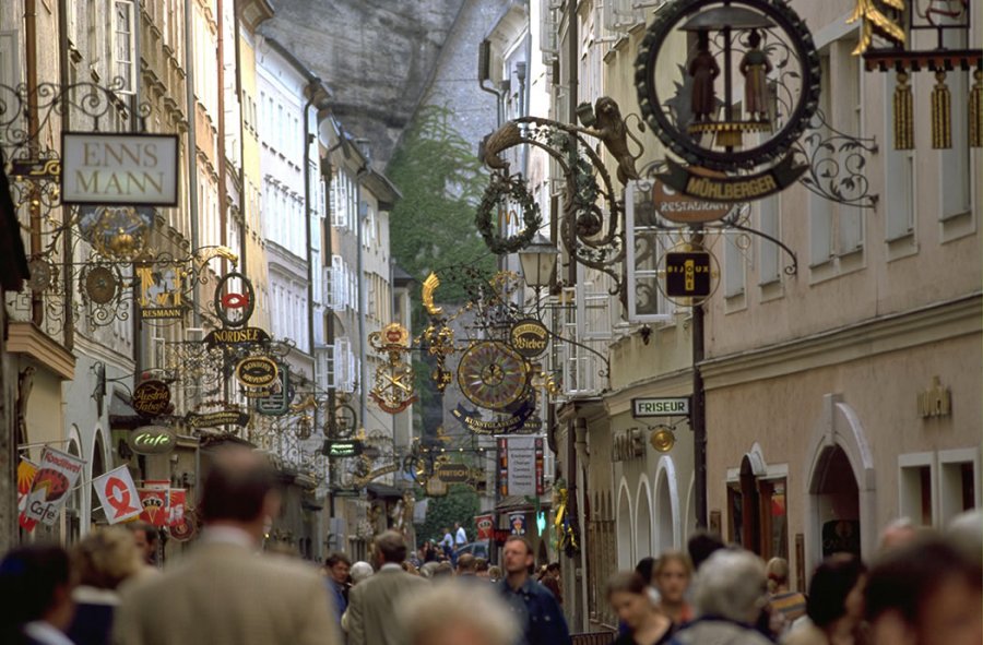
{"label": "pointed pale stone archway with its dark opening, right-hand building", "polygon": [[807,458],[806,570],[837,550],[868,560],[877,538],[874,461],[860,418],[842,396],[826,395]]}

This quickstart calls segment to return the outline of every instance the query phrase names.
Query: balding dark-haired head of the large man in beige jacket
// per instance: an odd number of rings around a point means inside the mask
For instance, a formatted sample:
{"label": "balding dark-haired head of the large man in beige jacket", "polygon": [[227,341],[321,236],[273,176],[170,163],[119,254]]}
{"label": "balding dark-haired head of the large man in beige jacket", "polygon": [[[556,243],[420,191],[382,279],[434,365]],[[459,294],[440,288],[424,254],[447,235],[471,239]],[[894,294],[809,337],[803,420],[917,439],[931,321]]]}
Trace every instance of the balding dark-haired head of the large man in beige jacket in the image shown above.
{"label": "balding dark-haired head of the large man in beige jacket", "polygon": [[226,447],[212,461],[199,510],[205,523],[254,522],[275,487],[273,468],[262,455],[241,446]]}

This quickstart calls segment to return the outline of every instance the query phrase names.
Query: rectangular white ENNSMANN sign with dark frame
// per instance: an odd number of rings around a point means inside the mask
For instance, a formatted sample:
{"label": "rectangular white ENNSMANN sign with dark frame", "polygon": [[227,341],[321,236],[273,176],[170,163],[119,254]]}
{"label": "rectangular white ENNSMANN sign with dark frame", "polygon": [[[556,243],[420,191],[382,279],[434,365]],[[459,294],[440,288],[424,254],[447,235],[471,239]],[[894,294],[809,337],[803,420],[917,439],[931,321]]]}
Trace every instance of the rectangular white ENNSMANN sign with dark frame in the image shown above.
{"label": "rectangular white ENNSMANN sign with dark frame", "polygon": [[177,164],[175,134],[66,132],[61,202],[177,206]]}

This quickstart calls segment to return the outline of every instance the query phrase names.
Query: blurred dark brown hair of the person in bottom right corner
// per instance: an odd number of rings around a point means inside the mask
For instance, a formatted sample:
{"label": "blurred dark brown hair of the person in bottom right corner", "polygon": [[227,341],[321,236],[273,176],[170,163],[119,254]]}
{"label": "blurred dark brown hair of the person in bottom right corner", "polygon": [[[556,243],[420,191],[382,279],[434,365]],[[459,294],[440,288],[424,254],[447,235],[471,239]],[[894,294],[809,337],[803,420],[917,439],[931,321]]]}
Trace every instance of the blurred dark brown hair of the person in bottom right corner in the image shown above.
{"label": "blurred dark brown hair of the person in bottom right corner", "polygon": [[969,588],[983,584],[980,565],[957,547],[938,538],[923,538],[884,553],[867,578],[865,612],[869,621],[897,611],[907,623],[917,624],[919,610],[927,597],[950,580],[962,580]]}

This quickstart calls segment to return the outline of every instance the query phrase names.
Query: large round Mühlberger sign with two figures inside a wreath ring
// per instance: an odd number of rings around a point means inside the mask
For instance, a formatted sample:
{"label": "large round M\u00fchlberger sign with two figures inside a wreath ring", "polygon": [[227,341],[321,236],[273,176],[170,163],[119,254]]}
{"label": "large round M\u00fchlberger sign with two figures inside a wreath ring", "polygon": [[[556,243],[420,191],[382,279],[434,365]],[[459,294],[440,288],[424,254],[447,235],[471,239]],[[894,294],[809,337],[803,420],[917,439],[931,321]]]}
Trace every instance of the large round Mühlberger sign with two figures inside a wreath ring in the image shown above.
{"label": "large round M\u00fchlberger sign with two figures inside a wreath ring", "polygon": [[[691,48],[676,46],[679,33]],[[747,202],[808,169],[792,148],[819,105],[820,59],[783,0],[673,0],[649,26],[635,68],[642,116],[679,159],[659,176],[673,190]]]}

